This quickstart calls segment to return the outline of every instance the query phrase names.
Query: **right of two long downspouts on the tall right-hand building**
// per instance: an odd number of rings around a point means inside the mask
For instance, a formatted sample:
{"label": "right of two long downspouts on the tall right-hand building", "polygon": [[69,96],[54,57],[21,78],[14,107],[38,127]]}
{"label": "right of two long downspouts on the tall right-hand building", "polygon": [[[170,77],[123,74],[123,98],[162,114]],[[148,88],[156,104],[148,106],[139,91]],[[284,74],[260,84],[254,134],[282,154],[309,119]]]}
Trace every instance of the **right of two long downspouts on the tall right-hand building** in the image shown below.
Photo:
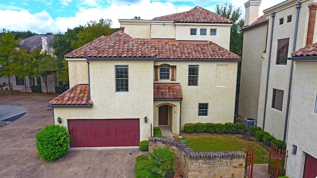
{"label": "right of two long downspouts on the tall right-hand building", "polygon": [[[298,30],[298,19],[299,19],[299,10],[301,8],[302,2],[298,2],[296,4],[297,8],[297,14],[296,14],[296,23],[295,23],[295,33],[294,33],[294,42],[293,42],[293,50],[295,51],[296,48],[296,38],[297,38],[297,30]],[[292,77],[293,77],[293,67],[294,67],[294,61],[291,60],[291,71],[289,74],[289,84],[288,84],[288,94],[287,94],[287,106],[286,106],[286,116],[285,116],[285,125],[284,125],[284,135],[283,135],[283,141],[285,142],[286,139],[286,130],[287,130],[287,122],[288,122],[288,115],[289,115],[289,104],[290,104],[290,97],[291,97],[291,87],[292,87]]]}

